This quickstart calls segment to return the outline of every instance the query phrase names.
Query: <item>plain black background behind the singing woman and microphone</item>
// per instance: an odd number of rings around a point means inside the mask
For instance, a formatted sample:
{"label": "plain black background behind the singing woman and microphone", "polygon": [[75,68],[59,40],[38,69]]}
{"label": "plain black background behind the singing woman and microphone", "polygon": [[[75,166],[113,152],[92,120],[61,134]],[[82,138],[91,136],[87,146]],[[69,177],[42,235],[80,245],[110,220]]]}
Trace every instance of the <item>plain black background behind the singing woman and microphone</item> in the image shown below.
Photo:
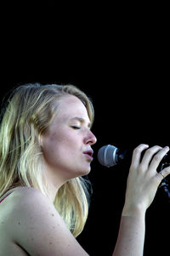
{"label": "plain black background behind the singing woman and microphone", "polygon": [[[167,7],[120,3],[23,4],[3,8],[1,100],[25,82],[72,83],[94,103],[94,193],[78,241],[90,255],[111,255],[127,167],[104,168],[101,145],[170,145]],[[144,255],[168,252],[170,208],[158,191],[146,213]],[[104,253],[105,252],[105,253]]]}

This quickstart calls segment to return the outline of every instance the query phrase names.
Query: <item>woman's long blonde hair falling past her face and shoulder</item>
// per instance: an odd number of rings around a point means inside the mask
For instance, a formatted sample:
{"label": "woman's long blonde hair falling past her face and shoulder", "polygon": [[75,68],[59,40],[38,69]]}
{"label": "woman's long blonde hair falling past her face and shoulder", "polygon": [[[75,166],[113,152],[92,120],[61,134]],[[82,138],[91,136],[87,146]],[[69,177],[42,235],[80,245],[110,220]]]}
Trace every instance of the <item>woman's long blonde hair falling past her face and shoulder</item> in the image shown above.
{"label": "woman's long blonde hair falling past her face and shoulder", "polygon": [[[79,88],[67,84],[24,84],[15,88],[3,111],[0,128],[0,197],[17,186],[34,187],[48,196],[42,180],[40,137],[57,112],[54,102],[66,94],[77,96],[94,121],[94,107]],[[77,177],[59,188],[54,206],[78,236],[88,218],[88,179]]]}

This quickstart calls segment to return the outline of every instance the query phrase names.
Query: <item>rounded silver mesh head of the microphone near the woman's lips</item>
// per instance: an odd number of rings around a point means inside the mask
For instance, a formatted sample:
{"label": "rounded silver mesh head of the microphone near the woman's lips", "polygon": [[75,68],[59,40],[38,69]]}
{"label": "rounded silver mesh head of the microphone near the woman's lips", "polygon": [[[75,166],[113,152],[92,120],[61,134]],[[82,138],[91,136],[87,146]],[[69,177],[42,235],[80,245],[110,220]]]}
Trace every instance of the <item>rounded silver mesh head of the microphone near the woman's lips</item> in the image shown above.
{"label": "rounded silver mesh head of the microphone near the woman's lips", "polygon": [[114,145],[104,145],[98,151],[99,163],[111,167],[117,163],[117,151],[118,149]]}

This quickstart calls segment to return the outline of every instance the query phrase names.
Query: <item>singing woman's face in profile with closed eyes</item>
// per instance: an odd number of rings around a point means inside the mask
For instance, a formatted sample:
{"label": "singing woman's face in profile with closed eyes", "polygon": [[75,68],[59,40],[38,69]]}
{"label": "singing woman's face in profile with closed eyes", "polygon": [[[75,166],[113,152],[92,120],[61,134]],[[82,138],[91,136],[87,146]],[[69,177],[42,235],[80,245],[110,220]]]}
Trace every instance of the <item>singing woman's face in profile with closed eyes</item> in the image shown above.
{"label": "singing woman's face in profile with closed eyes", "polygon": [[59,100],[57,115],[42,135],[45,165],[53,176],[65,180],[88,174],[96,142],[90,131],[88,111],[76,96]]}

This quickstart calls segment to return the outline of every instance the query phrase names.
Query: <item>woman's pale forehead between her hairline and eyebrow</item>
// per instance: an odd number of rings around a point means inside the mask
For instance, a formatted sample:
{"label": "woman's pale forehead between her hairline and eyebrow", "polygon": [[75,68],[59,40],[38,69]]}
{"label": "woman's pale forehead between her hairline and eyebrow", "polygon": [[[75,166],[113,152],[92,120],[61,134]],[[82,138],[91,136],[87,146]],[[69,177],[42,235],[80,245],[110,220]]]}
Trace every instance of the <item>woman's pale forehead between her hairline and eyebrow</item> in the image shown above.
{"label": "woman's pale forehead between her hairline and eyebrow", "polygon": [[57,116],[65,119],[81,117],[89,122],[88,111],[85,105],[74,95],[66,95],[59,100]]}

